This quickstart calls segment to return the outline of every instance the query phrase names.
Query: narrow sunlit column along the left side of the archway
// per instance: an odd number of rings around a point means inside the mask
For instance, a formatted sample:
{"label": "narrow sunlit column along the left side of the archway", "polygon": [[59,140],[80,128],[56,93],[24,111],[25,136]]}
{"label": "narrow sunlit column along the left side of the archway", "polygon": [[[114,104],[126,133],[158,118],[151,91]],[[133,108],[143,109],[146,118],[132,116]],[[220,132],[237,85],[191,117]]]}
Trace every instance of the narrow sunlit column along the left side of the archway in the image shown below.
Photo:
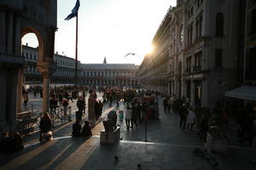
{"label": "narrow sunlit column along the left side of the archway", "polygon": [[18,80],[17,80],[17,101],[16,101],[16,112],[21,111],[21,99],[22,99],[22,85],[23,85],[23,71],[20,68],[18,72]]}

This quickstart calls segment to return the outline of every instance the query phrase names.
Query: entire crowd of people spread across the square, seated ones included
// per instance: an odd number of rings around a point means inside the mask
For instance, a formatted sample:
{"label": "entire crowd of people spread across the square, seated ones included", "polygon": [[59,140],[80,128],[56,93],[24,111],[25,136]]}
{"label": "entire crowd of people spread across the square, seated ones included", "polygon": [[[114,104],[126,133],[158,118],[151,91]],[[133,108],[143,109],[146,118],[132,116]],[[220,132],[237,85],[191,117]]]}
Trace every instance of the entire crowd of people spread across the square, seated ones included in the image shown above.
{"label": "entire crowd of people spread across the square, seated ones included", "polygon": [[[24,105],[27,105],[28,92],[33,92],[34,96],[37,96],[41,92],[40,87],[34,87],[29,90],[23,91],[23,97],[25,100]],[[125,118],[125,127],[127,131],[130,128],[137,127],[139,122],[150,118],[158,118],[158,92],[149,90],[137,90],[135,88],[99,88],[99,92],[102,93],[102,100],[97,99],[96,89],[94,88],[73,88],[73,87],[59,87],[50,88],[49,92],[49,113],[44,113],[43,118],[40,121],[40,136],[39,140],[43,138],[52,138],[51,133],[51,120],[49,114],[54,114],[56,108],[63,108],[67,114],[67,107],[69,102],[74,102],[77,99],[76,105],[78,108],[76,122],[73,124],[73,137],[85,136],[90,137],[91,127],[88,121],[84,122],[84,126],[80,125],[82,122],[82,114],[85,113],[85,97],[86,94],[90,94],[95,98],[95,116],[98,120],[102,116],[103,106],[107,107],[119,107],[119,102],[123,102],[123,111],[119,109],[117,115],[119,120],[123,121]],[[163,96],[160,95],[160,96]],[[40,96],[43,97],[43,94]],[[157,105],[157,106],[156,106]],[[175,95],[170,97],[164,97],[162,101],[164,107],[164,113],[169,114],[171,112],[177,113],[179,116],[179,127],[181,129],[198,128],[198,135],[203,141],[207,139],[207,133],[211,133],[211,127],[218,126],[223,132],[230,127],[230,116],[233,115],[233,111],[228,102],[223,104],[216,103],[215,109],[209,111],[207,108],[196,110],[190,105],[187,99],[177,99]],[[237,111],[236,118],[236,132],[241,145],[247,143],[249,146],[253,145],[253,138],[256,138],[256,119],[255,106],[248,104],[245,109],[239,109]],[[49,133],[50,132],[50,133]],[[22,139],[19,138],[20,134],[3,133],[2,139],[15,139],[18,141],[16,145],[17,150],[22,149]],[[224,138],[228,139],[224,134]],[[19,140],[17,140],[19,139]],[[20,142],[21,141],[21,142]],[[20,144],[21,143],[21,144]]]}

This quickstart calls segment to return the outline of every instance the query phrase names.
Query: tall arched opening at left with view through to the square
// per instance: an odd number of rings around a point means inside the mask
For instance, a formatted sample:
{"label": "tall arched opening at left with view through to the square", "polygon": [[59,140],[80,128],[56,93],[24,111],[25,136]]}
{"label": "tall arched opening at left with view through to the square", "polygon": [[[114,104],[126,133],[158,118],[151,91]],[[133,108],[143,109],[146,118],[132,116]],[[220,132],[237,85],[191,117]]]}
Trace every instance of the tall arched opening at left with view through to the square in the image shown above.
{"label": "tall arched opening at left with view through to the square", "polygon": [[[32,98],[43,98],[42,76],[38,71],[38,61],[44,60],[44,41],[41,34],[32,28],[21,29],[20,55],[25,59],[25,66],[18,73],[16,111],[32,111]],[[26,100],[28,100],[26,102]],[[38,110],[41,104],[38,103]]]}

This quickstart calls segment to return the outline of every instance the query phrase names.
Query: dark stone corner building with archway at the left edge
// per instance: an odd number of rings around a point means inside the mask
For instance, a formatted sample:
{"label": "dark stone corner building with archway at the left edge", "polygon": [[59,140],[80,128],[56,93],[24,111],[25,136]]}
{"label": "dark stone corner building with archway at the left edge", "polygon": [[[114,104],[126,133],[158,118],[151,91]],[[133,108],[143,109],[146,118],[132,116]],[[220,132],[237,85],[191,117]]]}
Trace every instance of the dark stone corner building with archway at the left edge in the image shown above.
{"label": "dark stone corner building with archway at the left edge", "polygon": [[15,128],[25,63],[21,54],[21,37],[35,33],[38,37],[38,71],[44,79],[42,111],[49,107],[49,76],[55,71],[54,42],[57,0],[0,1],[0,131]]}

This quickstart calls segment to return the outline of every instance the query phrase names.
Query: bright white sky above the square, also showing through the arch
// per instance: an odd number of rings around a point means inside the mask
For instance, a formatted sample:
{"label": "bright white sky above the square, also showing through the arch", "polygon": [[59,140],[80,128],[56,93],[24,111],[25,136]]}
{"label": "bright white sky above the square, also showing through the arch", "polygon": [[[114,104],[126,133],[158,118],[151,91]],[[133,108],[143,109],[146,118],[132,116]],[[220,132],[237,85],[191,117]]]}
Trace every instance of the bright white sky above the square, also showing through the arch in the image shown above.
{"label": "bright white sky above the square, also showing through the arch", "polygon": [[[75,18],[64,20],[76,0],[58,0],[55,52],[75,58]],[[140,65],[155,32],[176,0],[80,0],[79,60],[82,63],[134,63]],[[22,43],[37,47],[27,34]],[[135,53],[124,57],[125,54]]]}

